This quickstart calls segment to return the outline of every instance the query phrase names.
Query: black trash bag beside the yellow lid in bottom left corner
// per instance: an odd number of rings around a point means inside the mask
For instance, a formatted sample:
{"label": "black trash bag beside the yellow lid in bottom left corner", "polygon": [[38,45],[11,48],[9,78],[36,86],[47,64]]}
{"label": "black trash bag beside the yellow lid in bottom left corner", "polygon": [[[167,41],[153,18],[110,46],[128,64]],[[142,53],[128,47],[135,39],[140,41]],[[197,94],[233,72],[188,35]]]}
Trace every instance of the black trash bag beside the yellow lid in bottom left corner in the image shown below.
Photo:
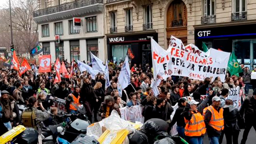
{"label": "black trash bag beside the yellow lid in bottom left corner", "polygon": [[34,128],[26,127],[26,130],[17,136],[15,143],[37,144],[38,132]]}

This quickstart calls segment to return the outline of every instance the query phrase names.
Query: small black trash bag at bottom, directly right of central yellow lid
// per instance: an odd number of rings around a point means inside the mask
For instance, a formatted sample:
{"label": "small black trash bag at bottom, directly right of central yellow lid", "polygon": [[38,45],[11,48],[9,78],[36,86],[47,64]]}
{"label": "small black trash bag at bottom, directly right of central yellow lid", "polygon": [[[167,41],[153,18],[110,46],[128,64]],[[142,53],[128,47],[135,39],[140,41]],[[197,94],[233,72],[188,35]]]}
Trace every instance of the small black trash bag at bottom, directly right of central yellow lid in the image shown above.
{"label": "small black trash bag at bottom, directly right of central yellow lid", "polygon": [[129,144],[148,144],[148,137],[145,133],[135,130],[128,134]]}

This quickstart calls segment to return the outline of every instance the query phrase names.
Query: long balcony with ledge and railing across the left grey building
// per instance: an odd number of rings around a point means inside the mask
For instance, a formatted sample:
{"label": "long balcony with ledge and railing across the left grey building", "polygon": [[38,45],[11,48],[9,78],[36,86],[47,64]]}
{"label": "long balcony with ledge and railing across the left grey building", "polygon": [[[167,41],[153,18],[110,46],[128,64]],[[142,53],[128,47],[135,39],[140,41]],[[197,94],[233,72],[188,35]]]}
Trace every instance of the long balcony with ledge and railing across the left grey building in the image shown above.
{"label": "long balcony with ledge and railing across the left grey building", "polygon": [[90,13],[103,12],[103,0],[76,0],[33,12],[36,23],[81,17]]}

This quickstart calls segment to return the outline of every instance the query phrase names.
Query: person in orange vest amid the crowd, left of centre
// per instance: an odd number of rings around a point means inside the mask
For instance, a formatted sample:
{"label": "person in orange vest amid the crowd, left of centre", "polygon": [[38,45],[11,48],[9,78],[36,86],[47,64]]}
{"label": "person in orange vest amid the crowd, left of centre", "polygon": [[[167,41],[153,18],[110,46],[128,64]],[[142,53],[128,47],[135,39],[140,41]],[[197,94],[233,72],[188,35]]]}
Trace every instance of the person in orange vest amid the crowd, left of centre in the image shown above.
{"label": "person in orange vest amid the crowd, left of centre", "polygon": [[66,100],[66,110],[70,114],[77,114],[77,107],[80,105],[80,88],[75,87],[74,92],[70,93]]}

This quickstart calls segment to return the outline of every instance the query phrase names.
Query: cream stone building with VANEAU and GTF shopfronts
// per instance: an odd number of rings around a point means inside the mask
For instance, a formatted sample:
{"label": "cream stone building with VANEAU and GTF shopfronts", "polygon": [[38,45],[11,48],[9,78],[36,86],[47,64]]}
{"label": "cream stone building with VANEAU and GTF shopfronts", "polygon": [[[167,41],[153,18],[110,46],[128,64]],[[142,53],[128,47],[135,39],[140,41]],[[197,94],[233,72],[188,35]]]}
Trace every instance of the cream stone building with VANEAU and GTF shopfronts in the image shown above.
{"label": "cream stone building with VANEAU and GTF shopfronts", "polygon": [[150,38],[167,49],[173,35],[199,48],[204,42],[234,51],[241,63],[256,64],[254,0],[105,0],[105,16],[109,60],[123,60],[131,48],[133,63],[150,63]]}

